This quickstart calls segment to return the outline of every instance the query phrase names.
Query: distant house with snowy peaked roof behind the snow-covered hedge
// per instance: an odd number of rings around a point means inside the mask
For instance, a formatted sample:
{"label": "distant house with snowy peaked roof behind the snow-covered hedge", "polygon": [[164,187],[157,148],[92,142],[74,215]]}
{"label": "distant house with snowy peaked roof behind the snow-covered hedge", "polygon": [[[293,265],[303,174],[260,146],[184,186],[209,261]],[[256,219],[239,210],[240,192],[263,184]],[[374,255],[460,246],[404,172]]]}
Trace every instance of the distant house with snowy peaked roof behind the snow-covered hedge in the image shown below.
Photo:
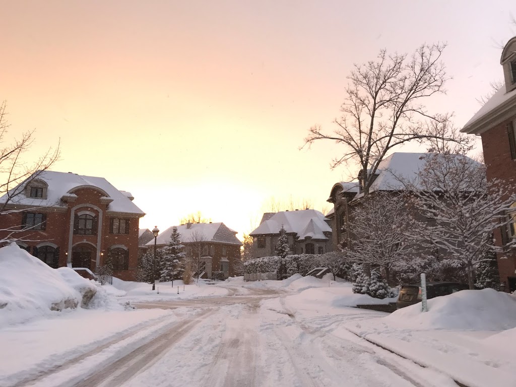
{"label": "distant house with snowy peaked roof behind the snow-covered hedge", "polygon": [[293,254],[324,254],[332,251],[332,232],[328,219],[315,209],[265,213],[253,238],[256,257],[276,255],[281,227],[286,231]]}

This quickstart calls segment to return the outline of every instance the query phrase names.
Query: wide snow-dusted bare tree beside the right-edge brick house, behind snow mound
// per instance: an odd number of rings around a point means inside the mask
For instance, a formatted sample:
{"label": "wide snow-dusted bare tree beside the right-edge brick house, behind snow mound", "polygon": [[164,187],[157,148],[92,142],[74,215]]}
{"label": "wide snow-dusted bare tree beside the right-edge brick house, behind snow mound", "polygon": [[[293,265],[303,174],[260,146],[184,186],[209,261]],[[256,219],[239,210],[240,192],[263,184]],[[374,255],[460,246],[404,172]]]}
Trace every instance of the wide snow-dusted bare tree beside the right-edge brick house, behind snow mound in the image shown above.
{"label": "wide snow-dusted bare tree beside the right-edge brick house, behind snow mound", "polygon": [[[416,184],[407,184],[411,204],[431,222],[413,227],[408,234],[422,246],[438,248],[452,266],[464,266],[470,288],[474,269],[486,260],[495,246],[493,231],[514,222],[514,187],[487,181],[486,168],[469,157],[456,154],[429,154]],[[513,229],[513,228],[512,228]],[[507,238],[505,248],[516,244]]]}

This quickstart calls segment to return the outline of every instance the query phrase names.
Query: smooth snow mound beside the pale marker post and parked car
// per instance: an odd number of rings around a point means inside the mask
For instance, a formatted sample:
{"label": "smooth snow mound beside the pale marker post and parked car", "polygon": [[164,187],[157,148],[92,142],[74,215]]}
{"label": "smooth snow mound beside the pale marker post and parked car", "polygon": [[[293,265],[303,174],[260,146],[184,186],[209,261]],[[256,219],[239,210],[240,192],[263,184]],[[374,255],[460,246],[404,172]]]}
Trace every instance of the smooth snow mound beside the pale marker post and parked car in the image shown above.
{"label": "smooth snow mound beside the pale marker post and parked car", "polygon": [[465,290],[397,310],[385,317],[389,324],[414,329],[497,331],[516,327],[516,299],[494,289]]}

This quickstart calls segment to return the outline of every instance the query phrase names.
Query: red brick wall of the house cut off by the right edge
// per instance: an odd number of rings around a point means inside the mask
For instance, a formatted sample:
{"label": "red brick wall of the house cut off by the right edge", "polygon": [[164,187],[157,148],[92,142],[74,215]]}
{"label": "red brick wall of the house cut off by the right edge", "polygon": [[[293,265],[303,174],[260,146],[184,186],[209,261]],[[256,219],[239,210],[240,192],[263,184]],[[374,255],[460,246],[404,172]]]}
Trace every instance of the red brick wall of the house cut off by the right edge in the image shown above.
{"label": "red brick wall of the house cut off by the right edge", "polygon": [[[516,116],[512,117],[514,120]],[[488,180],[500,179],[506,182],[516,182],[516,160],[511,159],[509,138],[507,135],[507,120],[485,133],[481,134],[484,159],[487,166]],[[502,246],[502,236],[499,230],[494,233],[496,245]],[[503,257],[507,257],[506,259]],[[514,249],[508,253],[498,254],[498,270],[500,280],[509,288],[508,278],[516,277],[516,252]]]}

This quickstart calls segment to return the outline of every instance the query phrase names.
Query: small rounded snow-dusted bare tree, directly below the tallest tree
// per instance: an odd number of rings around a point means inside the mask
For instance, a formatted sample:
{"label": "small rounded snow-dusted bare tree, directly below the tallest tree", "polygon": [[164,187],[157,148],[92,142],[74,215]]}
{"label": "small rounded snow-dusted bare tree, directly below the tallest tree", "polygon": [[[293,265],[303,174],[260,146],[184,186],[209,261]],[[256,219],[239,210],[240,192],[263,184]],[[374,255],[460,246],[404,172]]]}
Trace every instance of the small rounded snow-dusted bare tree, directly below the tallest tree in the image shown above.
{"label": "small rounded snow-dusted bare tree, directly below the tallest tree", "polygon": [[354,262],[381,267],[389,282],[393,265],[417,253],[414,241],[407,236],[410,220],[400,195],[378,191],[364,198],[352,209],[347,256]]}

